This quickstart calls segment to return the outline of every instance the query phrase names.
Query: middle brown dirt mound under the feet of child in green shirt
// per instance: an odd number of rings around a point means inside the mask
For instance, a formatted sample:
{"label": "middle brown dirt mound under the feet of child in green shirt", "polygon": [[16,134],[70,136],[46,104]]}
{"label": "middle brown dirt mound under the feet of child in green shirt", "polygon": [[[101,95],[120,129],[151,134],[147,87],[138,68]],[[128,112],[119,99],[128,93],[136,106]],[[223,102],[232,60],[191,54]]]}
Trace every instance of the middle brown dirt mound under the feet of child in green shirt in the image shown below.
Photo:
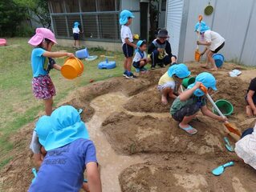
{"label": "middle brown dirt mound under the feet of child in green shirt", "polygon": [[185,153],[219,155],[224,150],[219,122],[200,118],[192,122],[198,134],[191,137],[177,128],[173,118],[114,114],[103,122],[102,130],[112,147],[123,154]]}

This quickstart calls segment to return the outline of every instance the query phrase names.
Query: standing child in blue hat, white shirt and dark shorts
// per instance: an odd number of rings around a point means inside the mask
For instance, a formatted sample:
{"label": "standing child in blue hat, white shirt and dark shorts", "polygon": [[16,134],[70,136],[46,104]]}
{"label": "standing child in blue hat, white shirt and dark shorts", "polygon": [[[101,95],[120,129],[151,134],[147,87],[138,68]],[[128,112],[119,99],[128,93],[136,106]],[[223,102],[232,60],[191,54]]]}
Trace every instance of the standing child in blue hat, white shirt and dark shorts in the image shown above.
{"label": "standing child in blue hat, white shirt and dark shorts", "polygon": [[132,56],[133,51],[136,49],[136,45],[133,42],[132,32],[129,26],[132,24],[132,15],[129,10],[122,10],[120,13],[120,25],[121,25],[121,39],[123,42],[123,52],[124,52],[124,77],[125,78],[136,78],[134,74],[132,74]]}

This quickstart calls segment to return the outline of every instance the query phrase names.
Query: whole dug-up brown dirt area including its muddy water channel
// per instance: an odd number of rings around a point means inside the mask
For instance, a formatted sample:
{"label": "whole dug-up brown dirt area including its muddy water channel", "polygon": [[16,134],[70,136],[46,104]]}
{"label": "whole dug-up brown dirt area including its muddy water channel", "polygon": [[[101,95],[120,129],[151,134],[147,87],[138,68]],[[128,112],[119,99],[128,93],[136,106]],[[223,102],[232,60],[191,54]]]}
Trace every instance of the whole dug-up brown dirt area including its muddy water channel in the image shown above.
{"label": "whole dug-up brown dirt area including its muddy water channel", "polygon": [[[228,72],[235,68],[242,75],[230,78]],[[189,63],[189,69],[193,75],[203,71],[196,63]],[[166,70],[154,70],[135,80],[95,82],[59,103],[83,109],[83,121],[97,148],[103,191],[255,191],[256,172],[226,150],[221,122],[199,114],[191,123],[198,130],[196,135],[177,128],[169,116],[171,101],[162,106],[156,90]],[[244,96],[255,72],[233,64],[213,72],[218,89],[213,100],[226,99],[234,105],[229,119],[240,130],[254,126],[255,119],[246,118]],[[28,147],[33,128],[30,123],[10,138],[14,158],[1,172],[1,191],[26,191],[30,186],[33,163]],[[211,174],[213,168],[230,161],[235,164],[224,174]]]}

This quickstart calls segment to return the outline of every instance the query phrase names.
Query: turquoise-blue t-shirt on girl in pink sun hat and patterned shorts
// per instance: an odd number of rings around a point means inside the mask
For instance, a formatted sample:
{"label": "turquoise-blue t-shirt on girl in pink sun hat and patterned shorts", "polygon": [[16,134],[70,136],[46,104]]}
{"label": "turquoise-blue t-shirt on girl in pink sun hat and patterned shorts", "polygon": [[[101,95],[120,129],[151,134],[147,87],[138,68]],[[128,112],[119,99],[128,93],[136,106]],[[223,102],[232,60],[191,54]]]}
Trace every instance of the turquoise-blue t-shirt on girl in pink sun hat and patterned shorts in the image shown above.
{"label": "turquoise-blue t-shirt on girl in pink sun hat and patterned shorts", "polygon": [[35,48],[32,50],[31,66],[34,78],[39,77],[39,75],[48,74],[47,70],[44,70],[44,65],[46,62],[46,58],[43,57],[44,52],[46,52],[46,50],[43,50],[42,48]]}

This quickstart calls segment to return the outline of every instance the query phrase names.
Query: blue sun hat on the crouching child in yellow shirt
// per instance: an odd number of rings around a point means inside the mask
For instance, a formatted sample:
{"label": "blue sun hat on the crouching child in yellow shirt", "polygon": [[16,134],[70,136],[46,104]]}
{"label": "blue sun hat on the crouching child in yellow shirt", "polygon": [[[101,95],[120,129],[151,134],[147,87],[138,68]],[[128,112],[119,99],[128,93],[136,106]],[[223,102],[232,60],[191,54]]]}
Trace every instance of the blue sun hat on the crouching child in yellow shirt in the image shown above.
{"label": "blue sun hat on the crouching child in yellow shirt", "polygon": [[184,63],[176,64],[169,67],[168,75],[169,77],[173,77],[173,75],[176,75],[178,78],[187,78],[191,74],[189,71],[188,66],[186,66]]}

